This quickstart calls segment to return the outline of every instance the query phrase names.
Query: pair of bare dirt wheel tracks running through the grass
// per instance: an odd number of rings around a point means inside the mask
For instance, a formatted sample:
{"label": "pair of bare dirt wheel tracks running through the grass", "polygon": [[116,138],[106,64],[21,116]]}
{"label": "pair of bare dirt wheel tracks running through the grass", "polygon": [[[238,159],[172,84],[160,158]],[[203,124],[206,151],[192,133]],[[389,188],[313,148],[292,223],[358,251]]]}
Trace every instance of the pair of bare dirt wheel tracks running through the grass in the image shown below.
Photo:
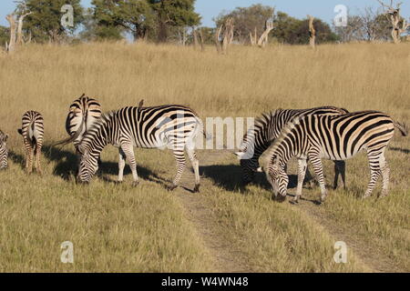
{"label": "pair of bare dirt wheel tracks running through the grass", "polygon": [[[226,159],[226,153],[220,151],[209,151],[200,156],[200,166],[217,165],[218,161]],[[206,197],[197,193],[191,193],[188,189],[193,187],[193,173],[190,167],[182,176],[181,185],[175,194],[186,210],[186,216],[195,227],[214,262],[215,272],[251,272],[251,267],[246,263],[246,256],[240,250],[232,248],[230,241],[224,237],[223,226],[220,226],[218,217],[211,210],[210,202]],[[201,187],[212,186],[206,177],[201,176]],[[369,272],[397,272],[395,264],[382,252],[369,247],[361,238],[354,233],[354,228],[338,225],[333,221],[329,213],[322,206],[317,206],[311,201],[302,200],[294,211],[302,213],[313,219],[315,224],[333,237],[335,241],[343,241],[353,250],[354,258],[362,263]]]}

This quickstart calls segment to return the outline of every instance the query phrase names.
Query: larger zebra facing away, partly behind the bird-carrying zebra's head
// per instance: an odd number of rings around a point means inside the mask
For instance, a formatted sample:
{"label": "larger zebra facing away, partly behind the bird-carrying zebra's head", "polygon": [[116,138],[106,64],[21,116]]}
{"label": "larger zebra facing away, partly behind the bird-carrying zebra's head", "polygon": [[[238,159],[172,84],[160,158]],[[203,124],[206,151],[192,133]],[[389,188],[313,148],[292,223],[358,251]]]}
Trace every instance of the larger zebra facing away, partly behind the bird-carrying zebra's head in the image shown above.
{"label": "larger zebra facing away, partly behind the bird-carrying zebra's head", "polygon": [[54,146],[73,143],[78,153],[78,145],[83,135],[101,116],[101,105],[96,99],[81,95],[69,107],[66,119],[67,139],[57,142]]}

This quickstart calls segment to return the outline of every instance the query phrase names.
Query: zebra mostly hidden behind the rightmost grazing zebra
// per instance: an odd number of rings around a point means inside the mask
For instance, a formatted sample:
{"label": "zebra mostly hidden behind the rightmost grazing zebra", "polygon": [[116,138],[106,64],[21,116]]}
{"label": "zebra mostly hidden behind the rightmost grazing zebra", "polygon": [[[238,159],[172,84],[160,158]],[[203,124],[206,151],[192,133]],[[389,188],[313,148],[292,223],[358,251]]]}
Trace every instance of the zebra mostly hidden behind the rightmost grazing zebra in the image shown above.
{"label": "zebra mostly hidden behind the rightmost grazing zebra", "polygon": [[[253,180],[254,173],[259,167],[258,159],[262,153],[272,144],[272,141],[281,134],[284,125],[297,116],[304,115],[343,115],[347,110],[333,106],[315,107],[310,109],[277,109],[263,114],[255,119],[254,127],[243,136],[240,151],[235,153],[241,158],[242,181],[249,184]],[[302,192],[303,178],[307,170],[306,160],[298,159],[298,187]],[[344,186],[345,165],[343,161],[334,162],[334,187],[337,187],[339,175],[342,176]],[[302,174],[302,175],[301,175]],[[301,180],[302,178],[302,180]]]}

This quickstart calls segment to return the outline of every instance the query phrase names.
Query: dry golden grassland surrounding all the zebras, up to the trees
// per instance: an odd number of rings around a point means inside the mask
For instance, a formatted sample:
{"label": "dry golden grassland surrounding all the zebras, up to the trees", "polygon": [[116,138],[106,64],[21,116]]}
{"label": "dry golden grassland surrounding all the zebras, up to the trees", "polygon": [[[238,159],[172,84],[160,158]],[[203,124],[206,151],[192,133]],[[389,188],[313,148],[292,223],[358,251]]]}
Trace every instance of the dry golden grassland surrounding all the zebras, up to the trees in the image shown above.
{"label": "dry golden grassland surrounding all the zebras, up to the trees", "polygon": [[[389,146],[390,196],[362,200],[369,171],[364,154],[347,162],[347,189],[330,190],[323,206],[317,186],[300,206],[270,200],[264,176],[241,187],[241,169],[227,151],[200,150],[202,188],[166,190],[174,175],[168,151],[136,149],[131,186],[114,183],[118,151],[108,146],[100,175],[89,186],[73,179],[66,137],[68,105],[82,93],[103,109],[177,103],[200,116],[256,116],[282,108],[338,105],[376,109],[410,125],[410,45],[277,45],[231,48],[217,55],[171,45],[29,45],[0,55],[0,128],[10,135],[9,168],[0,173],[2,272],[409,272],[410,139]],[[45,117],[44,176],[23,170],[16,128],[28,110]],[[333,163],[325,162],[328,185]],[[295,166],[289,167],[295,191]],[[188,166],[183,185],[191,189]],[[60,245],[74,244],[74,264]],[[348,247],[333,261],[334,243]]]}

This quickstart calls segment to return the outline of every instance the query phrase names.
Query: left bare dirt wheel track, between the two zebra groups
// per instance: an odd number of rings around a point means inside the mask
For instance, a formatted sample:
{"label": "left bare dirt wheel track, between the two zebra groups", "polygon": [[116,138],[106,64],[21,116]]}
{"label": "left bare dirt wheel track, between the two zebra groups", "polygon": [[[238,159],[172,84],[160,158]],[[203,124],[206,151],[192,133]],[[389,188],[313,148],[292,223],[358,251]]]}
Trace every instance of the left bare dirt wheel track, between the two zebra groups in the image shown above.
{"label": "left bare dirt wheel track, between the two zebra groups", "polygon": [[[200,166],[217,164],[218,160],[225,158],[223,152],[207,152],[200,156]],[[188,189],[193,187],[194,176],[187,169],[182,176],[181,185]],[[201,188],[211,186],[210,180],[201,177]],[[224,238],[223,227],[218,222],[218,217],[212,212],[212,207],[207,198],[199,193],[191,193],[189,190],[179,187],[175,195],[185,209],[185,215],[195,227],[213,261],[214,272],[241,273],[251,272],[246,264],[246,258],[240,250],[232,248],[229,240]]]}

